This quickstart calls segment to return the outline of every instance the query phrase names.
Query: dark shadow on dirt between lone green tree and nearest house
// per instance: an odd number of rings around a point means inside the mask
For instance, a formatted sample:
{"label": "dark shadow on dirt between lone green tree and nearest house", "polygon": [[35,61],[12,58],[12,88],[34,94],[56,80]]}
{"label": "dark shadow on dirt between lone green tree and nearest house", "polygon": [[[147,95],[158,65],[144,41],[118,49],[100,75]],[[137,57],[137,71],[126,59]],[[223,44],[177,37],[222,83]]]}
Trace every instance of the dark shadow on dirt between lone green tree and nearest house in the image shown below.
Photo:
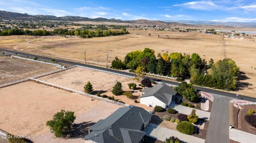
{"label": "dark shadow on dirt between lone green tree and nearest house", "polygon": [[84,136],[89,134],[89,127],[91,127],[93,124],[94,122],[91,121],[73,124],[72,129],[66,134],[66,137],[68,139],[84,138]]}

